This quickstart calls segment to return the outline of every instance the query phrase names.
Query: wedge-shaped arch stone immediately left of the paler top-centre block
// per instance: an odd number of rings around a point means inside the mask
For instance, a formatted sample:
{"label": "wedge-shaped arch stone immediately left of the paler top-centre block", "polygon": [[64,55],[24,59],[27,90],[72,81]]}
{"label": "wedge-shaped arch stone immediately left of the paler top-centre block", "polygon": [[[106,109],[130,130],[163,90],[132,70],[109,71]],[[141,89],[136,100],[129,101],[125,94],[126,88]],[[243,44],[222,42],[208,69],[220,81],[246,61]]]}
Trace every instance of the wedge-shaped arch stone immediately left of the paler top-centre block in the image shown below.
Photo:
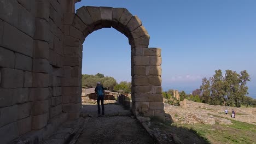
{"label": "wedge-shaped arch stone immediately left of the paler top-centre block", "polygon": [[92,21],[94,22],[95,27],[100,26],[101,27],[101,10],[100,7],[86,7],[88,10]]}

